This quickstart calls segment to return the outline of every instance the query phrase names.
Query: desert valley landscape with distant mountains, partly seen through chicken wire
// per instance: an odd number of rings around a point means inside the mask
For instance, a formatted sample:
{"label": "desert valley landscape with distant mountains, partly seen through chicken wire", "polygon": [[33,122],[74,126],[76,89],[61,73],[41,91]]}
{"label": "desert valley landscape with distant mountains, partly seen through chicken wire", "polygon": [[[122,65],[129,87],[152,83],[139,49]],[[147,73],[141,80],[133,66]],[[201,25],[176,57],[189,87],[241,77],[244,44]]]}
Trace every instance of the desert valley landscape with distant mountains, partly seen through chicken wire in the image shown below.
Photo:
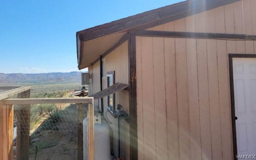
{"label": "desert valley landscape with distant mountains, partly seen through chicken wire", "polygon": [[[0,73],[0,77],[0,86],[30,86],[31,98],[67,98],[71,96],[74,90],[80,90],[83,87],[81,86],[81,73],[79,72]],[[87,86],[85,87],[87,88]],[[18,107],[17,105],[14,106],[14,112],[17,111]],[[84,104],[84,107],[86,107],[86,104]],[[76,113],[76,104],[32,104],[30,107],[29,159],[76,160]],[[14,115],[16,120],[17,115]],[[87,111],[85,109],[84,118],[86,115]],[[16,138],[16,135],[14,135],[14,138]]]}

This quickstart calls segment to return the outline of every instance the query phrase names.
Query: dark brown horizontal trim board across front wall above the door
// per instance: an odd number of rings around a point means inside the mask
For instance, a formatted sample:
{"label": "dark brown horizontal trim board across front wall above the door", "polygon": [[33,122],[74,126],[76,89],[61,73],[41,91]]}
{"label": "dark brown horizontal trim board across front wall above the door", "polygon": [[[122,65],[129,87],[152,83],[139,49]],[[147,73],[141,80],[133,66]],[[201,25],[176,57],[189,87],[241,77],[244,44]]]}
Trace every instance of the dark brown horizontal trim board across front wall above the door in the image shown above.
{"label": "dark brown horizontal trim board across front wall above the door", "polygon": [[256,40],[256,35],[247,35],[247,34],[215,34],[215,33],[173,32],[173,31],[131,30],[131,35],[156,36],[156,37],[180,37],[180,38],[207,38],[207,39],[243,39],[243,40],[253,40],[253,41]]}

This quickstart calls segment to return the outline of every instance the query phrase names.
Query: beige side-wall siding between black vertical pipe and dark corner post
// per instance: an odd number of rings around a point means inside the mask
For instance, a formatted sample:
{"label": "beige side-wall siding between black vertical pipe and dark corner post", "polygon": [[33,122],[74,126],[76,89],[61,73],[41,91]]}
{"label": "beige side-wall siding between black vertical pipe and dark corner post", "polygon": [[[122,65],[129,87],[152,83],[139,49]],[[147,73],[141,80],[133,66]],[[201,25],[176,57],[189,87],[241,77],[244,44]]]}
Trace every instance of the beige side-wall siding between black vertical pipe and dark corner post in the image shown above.
{"label": "beige side-wall siding between black vertical pipe and dark corner post", "polygon": [[[128,84],[128,42],[120,45],[114,51],[105,56],[105,75],[108,71],[115,71],[115,81],[119,83]],[[103,88],[107,88],[107,78],[103,79]],[[122,105],[124,111],[129,114],[129,94],[128,91],[122,90],[116,93],[116,107],[117,104]],[[104,98],[104,110],[107,111],[107,98]],[[118,154],[118,120],[108,112],[108,119],[113,123],[110,124],[113,130],[113,149]],[[121,121],[121,153],[122,157],[129,159],[129,125],[125,120]]]}

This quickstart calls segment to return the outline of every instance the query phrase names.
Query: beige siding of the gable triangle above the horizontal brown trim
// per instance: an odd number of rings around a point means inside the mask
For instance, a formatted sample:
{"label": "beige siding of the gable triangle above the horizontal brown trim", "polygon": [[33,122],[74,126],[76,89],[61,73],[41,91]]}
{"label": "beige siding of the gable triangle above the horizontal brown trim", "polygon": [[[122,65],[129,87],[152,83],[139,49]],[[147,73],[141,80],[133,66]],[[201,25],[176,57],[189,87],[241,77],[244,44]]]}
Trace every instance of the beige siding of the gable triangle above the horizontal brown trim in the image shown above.
{"label": "beige siding of the gable triangle above the horizontal brown trim", "polygon": [[[195,14],[193,16],[196,17],[196,22],[202,22],[206,25],[198,26],[196,32],[256,35],[256,19],[254,18],[256,15],[255,6],[255,0],[241,0],[236,3]],[[180,20],[182,21],[182,19]],[[180,20],[176,20],[175,22]],[[165,31],[175,31],[174,27],[169,27],[172,23],[173,22],[169,22],[160,26],[164,26]],[[186,22],[186,27],[190,25],[191,22]],[[159,26],[154,28],[159,28]],[[148,28],[147,30],[157,31],[154,28]],[[180,29],[180,31],[182,31],[182,29]]]}

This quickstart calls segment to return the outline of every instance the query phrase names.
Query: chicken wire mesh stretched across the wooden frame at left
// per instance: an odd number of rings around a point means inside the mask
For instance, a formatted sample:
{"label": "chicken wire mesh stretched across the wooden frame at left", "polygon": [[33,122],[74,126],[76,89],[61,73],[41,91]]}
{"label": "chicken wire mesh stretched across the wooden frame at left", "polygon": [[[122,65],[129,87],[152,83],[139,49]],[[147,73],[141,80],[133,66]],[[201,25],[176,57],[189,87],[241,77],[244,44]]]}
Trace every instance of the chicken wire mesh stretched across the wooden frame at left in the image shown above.
{"label": "chicken wire mesh stretched across the wooden frame at left", "polygon": [[[29,97],[27,90],[8,98]],[[79,154],[83,155],[83,139],[88,138],[82,137],[82,121],[87,117],[88,104],[60,102],[14,105],[14,160],[77,160]],[[89,160],[89,155],[84,155],[84,159]]]}

